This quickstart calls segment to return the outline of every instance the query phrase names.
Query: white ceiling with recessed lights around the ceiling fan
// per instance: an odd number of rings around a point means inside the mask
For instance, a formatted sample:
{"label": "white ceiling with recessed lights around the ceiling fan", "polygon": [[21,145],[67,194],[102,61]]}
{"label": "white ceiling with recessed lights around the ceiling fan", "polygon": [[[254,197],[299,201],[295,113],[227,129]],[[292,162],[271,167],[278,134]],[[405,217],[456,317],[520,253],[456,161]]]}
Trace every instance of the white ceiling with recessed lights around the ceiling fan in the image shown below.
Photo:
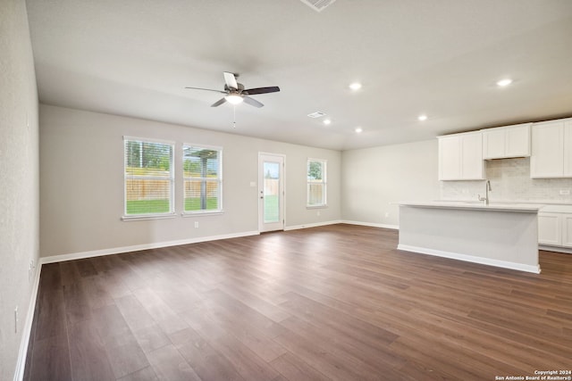
{"label": "white ceiling with recessed lights around the ceiling fan", "polygon": [[[337,150],[572,115],[571,0],[27,6],[44,104]],[[237,106],[233,129],[230,104],[210,107],[220,94],[184,89],[222,90],[223,71],[282,91],[253,95],[261,109]],[[514,83],[497,87],[505,77]]]}

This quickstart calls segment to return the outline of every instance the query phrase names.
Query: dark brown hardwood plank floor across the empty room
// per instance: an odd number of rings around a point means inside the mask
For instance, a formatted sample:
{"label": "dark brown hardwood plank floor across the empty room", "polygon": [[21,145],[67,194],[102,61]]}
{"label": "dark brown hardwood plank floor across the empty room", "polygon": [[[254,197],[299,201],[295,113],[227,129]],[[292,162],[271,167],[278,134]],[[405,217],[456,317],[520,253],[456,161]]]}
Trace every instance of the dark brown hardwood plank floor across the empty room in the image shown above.
{"label": "dark brown hardwood plank floor across the empty room", "polygon": [[572,369],[572,255],[542,274],[333,225],[43,266],[27,380],[494,380]]}

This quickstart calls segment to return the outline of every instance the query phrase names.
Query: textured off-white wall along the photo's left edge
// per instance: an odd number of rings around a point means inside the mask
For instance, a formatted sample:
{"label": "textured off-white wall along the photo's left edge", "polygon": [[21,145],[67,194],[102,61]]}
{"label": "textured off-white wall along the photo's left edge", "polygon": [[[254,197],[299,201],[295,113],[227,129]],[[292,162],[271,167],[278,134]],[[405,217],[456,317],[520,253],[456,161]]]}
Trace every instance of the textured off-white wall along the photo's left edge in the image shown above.
{"label": "textured off-white wall along the photo's left edge", "polygon": [[[38,91],[26,4],[0,7],[0,379],[14,377],[38,262]],[[14,309],[18,307],[18,332]]]}

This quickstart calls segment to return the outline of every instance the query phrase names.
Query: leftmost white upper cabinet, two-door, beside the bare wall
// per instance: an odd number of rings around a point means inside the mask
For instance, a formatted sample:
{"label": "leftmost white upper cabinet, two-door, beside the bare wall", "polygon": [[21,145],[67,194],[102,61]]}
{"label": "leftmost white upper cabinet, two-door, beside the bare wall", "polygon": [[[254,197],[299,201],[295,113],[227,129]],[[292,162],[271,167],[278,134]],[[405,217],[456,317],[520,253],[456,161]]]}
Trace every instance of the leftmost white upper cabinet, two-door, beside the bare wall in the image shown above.
{"label": "leftmost white upper cabinet, two-door, beside the bare wall", "polygon": [[439,139],[440,180],[482,180],[484,178],[481,132],[446,135]]}

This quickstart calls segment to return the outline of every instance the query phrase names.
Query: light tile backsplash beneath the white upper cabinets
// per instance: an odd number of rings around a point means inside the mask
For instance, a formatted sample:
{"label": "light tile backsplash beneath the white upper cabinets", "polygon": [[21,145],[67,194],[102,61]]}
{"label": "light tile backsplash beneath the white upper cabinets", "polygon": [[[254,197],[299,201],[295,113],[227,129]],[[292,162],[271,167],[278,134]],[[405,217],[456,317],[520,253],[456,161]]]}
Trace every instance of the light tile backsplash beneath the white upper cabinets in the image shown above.
{"label": "light tile backsplash beneath the white upper cabinets", "polygon": [[[491,160],[484,165],[492,203],[572,203],[572,178],[530,178],[530,158]],[[441,181],[441,198],[476,201],[477,195],[484,195],[484,184],[484,180]]]}

